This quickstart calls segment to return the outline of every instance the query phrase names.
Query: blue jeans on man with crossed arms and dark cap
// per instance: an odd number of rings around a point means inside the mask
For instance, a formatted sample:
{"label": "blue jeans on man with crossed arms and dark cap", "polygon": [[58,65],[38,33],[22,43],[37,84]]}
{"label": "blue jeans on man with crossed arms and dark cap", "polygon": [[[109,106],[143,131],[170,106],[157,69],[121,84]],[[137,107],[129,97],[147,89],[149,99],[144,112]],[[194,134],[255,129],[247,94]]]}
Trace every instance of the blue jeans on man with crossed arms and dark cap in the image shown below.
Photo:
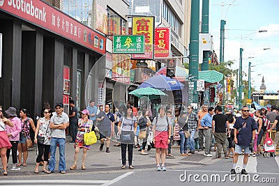
{"label": "blue jeans on man with crossed arms and dark cap", "polygon": [[59,144],[59,171],[66,171],[65,139],[56,137],[52,137],[52,140],[50,141],[50,164],[48,169],[52,172],[55,169],[55,153],[57,144]]}

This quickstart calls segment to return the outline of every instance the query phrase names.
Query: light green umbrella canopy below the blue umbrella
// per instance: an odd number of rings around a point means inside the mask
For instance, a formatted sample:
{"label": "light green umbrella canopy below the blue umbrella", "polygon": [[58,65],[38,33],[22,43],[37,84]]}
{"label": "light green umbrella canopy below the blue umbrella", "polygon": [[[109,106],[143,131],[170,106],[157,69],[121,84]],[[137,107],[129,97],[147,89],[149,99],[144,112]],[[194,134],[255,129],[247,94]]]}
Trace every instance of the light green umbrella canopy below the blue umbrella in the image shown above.
{"label": "light green umbrella canopy below the blue umbrella", "polygon": [[167,95],[163,93],[163,91],[160,91],[156,88],[137,88],[134,91],[130,92],[129,94],[135,95],[139,98],[142,98],[144,96],[148,97],[149,100],[160,98],[161,96]]}

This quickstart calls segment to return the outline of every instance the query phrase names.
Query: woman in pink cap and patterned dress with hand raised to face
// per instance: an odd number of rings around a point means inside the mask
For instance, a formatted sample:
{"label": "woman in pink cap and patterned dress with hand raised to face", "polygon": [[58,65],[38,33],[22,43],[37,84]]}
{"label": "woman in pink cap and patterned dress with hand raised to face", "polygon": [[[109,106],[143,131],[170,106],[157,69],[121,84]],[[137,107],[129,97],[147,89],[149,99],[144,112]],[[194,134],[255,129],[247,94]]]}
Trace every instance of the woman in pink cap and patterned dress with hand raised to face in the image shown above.
{"label": "woman in pink cap and patterned dress with hand raised to face", "polygon": [[93,121],[89,119],[89,110],[84,109],[80,111],[82,114],[82,118],[78,120],[78,128],[77,128],[77,138],[75,139],[75,155],[74,155],[74,164],[70,167],[70,170],[77,169],[77,157],[80,153],[80,148],[83,148],[82,155],[82,170],[86,169],[85,166],[85,158],[87,150],[90,149],[89,145],[84,144],[84,134],[89,132],[93,127]]}

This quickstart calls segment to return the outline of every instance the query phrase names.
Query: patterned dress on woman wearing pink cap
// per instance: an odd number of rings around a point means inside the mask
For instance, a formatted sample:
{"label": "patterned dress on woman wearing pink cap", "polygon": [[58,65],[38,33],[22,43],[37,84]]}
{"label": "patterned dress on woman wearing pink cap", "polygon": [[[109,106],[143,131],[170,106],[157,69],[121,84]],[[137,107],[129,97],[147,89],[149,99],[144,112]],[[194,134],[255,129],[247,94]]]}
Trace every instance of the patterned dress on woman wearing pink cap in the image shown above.
{"label": "patterned dress on woman wearing pink cap", "polygon": [[75,147],[90,149],[90,146],[84,144],[84,134],[85,132],[90,132],[92,126],[93,121],[91,120],[88,120],[86,122],[83,122],[82,118],[78,120],[78,128],[85,128],[85,130],[82,129],[77,132],[77,139],[75,139]]}

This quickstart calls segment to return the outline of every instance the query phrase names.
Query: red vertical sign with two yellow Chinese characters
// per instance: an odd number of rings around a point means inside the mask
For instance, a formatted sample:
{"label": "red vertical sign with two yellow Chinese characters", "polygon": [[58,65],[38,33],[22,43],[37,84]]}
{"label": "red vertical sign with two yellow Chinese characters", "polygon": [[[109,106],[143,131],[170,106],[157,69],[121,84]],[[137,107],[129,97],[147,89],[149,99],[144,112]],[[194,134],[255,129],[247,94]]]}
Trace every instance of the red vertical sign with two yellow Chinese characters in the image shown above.
{"label": "red vertical sign with two yellow Chinese characters", "polygon": [[154,58],[170,58],[170,28],[157,27],[154,33]]}

